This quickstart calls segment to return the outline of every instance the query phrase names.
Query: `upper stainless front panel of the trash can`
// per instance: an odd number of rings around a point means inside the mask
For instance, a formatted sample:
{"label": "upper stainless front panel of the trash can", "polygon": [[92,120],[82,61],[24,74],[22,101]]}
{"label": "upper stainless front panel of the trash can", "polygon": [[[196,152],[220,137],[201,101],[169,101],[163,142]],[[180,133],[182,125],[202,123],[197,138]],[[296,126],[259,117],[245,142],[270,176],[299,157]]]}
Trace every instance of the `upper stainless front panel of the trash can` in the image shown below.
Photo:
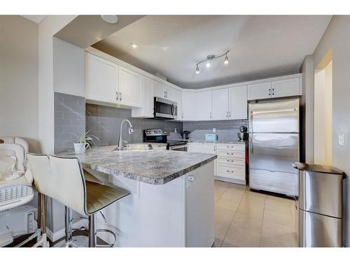
{"label": "upper stainless front panel of the trash can", "polygon": [[300,209],[341,218],[342,180],[342,175],[300,170]]}

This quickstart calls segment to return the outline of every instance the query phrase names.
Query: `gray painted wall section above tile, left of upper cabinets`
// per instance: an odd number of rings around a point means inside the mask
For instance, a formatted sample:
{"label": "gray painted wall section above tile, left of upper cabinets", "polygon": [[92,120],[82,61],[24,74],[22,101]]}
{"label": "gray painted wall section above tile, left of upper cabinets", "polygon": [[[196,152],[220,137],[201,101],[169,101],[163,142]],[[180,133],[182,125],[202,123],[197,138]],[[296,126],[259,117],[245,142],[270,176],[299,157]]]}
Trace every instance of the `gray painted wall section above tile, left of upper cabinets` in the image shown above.
{"label": "gray painted wall section above tile, left of upper cabinets", "polygon": [[85,51],[53,38],[53,87],[55,92],[85,96]]}

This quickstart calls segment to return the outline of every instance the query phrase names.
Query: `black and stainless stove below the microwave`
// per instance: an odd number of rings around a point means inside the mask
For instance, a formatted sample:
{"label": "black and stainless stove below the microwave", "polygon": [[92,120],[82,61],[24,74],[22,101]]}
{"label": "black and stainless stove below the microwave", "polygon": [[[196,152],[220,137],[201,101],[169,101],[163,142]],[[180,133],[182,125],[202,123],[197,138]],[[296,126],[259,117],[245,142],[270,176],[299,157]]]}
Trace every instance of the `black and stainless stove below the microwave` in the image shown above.
{"label": "black and stainless stove below the microwave", "polygon": [[144,130],[144,142],[163,143],[167,145],[167,150],[187,151],[187,141],[167,140],[168,131],[162,129]]}

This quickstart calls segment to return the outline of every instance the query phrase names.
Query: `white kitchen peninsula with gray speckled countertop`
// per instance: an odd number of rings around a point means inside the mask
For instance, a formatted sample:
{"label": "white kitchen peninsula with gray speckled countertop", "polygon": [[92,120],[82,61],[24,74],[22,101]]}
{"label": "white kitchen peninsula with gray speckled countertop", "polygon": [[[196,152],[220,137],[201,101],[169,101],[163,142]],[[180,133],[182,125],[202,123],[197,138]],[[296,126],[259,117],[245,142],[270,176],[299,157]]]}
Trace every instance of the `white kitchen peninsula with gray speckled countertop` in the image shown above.
{"label": "white kitchen peninsula with gray speckled countertop", "polygon": [[[214,242],[214,154],[93,147],[78,157],[93,179],[130,196],[106,208],[118,247],[210,247]],[[91,179],[91,178],[90,178]],[[98,228],[106,228],[102,219]],[[102,239],[109,241],[107,235]]]}

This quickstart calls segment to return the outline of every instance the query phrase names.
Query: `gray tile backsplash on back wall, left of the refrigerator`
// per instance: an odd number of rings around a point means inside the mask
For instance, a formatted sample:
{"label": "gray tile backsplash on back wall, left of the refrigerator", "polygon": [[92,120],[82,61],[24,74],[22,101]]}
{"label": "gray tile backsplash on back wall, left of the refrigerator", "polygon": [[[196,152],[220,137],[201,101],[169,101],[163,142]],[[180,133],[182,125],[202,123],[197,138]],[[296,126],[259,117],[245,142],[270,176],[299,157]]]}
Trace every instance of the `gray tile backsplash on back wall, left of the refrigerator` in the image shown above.
{"label": "gray tile backsplash on back wall, left of the refrigerator", "polygon": [[183,122],[183,130],[190,131],[190,139],[204,140],[206,133],[216,129],[218,140],[237,140],[240,126],[249,127],[248,120]]}

